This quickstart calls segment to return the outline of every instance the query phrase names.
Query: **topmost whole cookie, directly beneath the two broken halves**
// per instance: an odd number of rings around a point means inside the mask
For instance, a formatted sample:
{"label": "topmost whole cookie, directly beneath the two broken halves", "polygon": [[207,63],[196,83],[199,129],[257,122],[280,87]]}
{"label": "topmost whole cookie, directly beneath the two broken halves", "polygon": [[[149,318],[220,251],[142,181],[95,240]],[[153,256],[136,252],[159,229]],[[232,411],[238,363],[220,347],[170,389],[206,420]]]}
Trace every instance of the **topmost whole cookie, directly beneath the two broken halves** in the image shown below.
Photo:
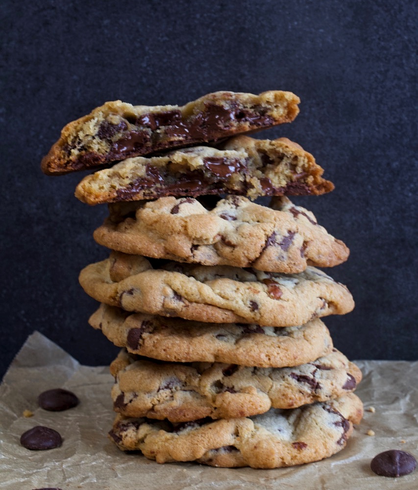
{"label": "topmost whole cookie, directly beneath the two broken halves", "polygon": [[206,266],[296,273],[344,262],[348,248],[287,197],[275,209],[227,196],[208,210],[192,197],[111,206],[94,232],[100,245],[129,254]]}

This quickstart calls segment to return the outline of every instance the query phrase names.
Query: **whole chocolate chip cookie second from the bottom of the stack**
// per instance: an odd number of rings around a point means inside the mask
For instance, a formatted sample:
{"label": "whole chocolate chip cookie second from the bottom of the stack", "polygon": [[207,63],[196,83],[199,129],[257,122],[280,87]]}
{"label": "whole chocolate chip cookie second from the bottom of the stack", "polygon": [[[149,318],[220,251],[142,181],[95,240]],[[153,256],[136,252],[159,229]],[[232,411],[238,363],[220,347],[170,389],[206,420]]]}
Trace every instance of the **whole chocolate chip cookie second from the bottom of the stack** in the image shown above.
{"label": "whole chocolate chip cookie second from the bottom of the stack", "polygon": [[293,368],[158,363],[122,350],[110,370],[115,412],[172,422],[295,408],[352,392],[361,380],[360,369],[337,350]]}

